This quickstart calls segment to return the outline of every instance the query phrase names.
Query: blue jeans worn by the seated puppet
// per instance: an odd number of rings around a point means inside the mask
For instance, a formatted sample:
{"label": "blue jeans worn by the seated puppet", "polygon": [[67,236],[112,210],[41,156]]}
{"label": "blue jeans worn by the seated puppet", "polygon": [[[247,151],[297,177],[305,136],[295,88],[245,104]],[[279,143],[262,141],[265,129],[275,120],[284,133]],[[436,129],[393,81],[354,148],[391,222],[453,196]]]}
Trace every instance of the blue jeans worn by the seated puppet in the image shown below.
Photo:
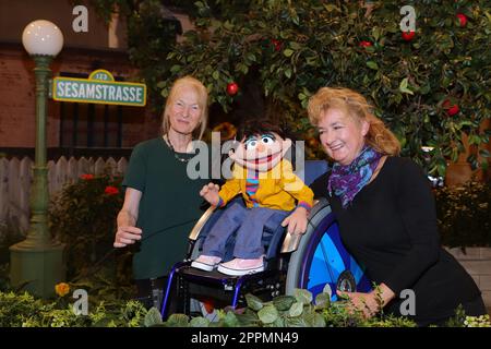
{"label": "blue jeans worn by the seated puppet", "polygon": [[247,208],[239,203],[233,203],[225,209],[212,227],[203,242],[202,254],[223,258],[228,238],[237,231],[233,256],[243,260],[259,258],[264,254],[262,236],[266,221],[268,225],[277,222],[276,226],[279,226],[289,214],[288,210],[265,207]]}

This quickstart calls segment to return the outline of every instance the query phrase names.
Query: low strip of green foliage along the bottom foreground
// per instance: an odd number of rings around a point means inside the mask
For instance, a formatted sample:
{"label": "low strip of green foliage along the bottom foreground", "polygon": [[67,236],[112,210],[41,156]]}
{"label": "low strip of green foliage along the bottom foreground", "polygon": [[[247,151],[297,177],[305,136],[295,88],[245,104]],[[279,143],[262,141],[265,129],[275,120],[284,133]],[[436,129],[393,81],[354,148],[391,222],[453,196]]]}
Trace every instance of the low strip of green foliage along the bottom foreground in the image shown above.
{"label": "low strip of green foliage along the bottom foreground", "polygon": [[[72,285],[73,287],[73,285]],[[77,315],[70,292],[56,300],[40,300],[15,292],[0,292],[1,327],[415,327],[406,317],[379,314],[363,318],[359,312],[348,310],[346,301],[331,303],[328,293],[312,294],[298,289],[295,296],[279,296],[270,302],[247,294],[246,309],[220,310],[218,322],[204,317],[189,318],[172,314],[161,321],[157,309],[145,308],[136,301],[110,300],[89,302],[88,313]],[[89,298],[91,300],[91,298]],[[466,316],[463,309],[447,326],[490,327],[489,315]]]}

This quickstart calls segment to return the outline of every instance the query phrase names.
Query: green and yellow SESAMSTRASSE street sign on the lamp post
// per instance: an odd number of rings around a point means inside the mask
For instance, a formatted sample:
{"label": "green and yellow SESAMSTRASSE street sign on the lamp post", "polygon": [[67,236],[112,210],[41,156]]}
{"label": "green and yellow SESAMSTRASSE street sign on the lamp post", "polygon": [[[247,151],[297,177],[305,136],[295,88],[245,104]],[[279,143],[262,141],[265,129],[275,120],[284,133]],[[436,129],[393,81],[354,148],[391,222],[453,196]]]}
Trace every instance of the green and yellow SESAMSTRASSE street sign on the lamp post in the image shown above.
{"label": "green and yellow SESAMSTRASSE street sign on the lamp post", "polygon": [[146,104],[146,85],[116,82],[111,73],[98,69],[88,79],[55,77],[52,99],[143,107]]}

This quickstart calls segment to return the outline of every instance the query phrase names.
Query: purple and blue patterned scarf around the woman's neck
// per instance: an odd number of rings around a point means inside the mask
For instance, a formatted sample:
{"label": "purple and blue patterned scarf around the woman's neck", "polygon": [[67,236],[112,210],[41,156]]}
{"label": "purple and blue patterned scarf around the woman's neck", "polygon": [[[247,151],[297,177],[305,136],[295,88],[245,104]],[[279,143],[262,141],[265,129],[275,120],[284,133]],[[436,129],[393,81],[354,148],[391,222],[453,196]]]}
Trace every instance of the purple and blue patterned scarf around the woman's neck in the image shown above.
{"label": "purple and blue patterned scarf around the woman's neck", "polygon": [[370,182],[381,157],[382,154],[370,146],[364,146],[351,164],[344,166],[335,163],[327,182],[330,195],[333,196],[334,190],[334,194],[342,200],[343,208],[346,208]]}

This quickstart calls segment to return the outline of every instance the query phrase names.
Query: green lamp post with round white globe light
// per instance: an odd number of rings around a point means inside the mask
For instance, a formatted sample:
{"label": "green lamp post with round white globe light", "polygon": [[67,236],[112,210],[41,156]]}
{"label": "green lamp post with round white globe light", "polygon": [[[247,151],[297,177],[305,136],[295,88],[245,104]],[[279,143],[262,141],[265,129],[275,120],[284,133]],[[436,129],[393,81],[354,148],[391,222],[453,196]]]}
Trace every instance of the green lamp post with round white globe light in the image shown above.
{"label": "green lamp post with round white globe light", "polygon": [[46,107],[49,64],[63,46],[61,31],[51,22],[29,23],[22,44],[35,62],[36,75],[36,149],[31,190],[31,222],[24,241],[10,246],[10,278],[14,286],[39,297],[55,293],[55,285],[64,278],[63,245],[51,241],[48,229],[48,167],[46,161]]}

